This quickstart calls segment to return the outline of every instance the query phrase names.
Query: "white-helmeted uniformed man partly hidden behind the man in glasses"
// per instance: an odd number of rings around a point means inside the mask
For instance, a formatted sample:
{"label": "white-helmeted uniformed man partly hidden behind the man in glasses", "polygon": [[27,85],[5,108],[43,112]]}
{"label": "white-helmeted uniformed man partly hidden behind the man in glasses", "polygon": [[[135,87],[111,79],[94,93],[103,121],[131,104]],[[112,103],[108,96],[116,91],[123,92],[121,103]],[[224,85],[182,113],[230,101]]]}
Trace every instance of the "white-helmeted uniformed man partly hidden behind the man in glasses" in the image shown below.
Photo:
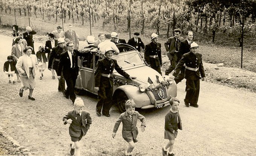
{"label": "white-helmeted uniformed man partly hidden behind the man in glasses", "polygon": [[[50,52],[49,60],[48,60],[48,69],[53,70],[53,76],[52,79],[55,79],[55,73],[58,72],[58,65],[59,65],[59,60],[61,58],[61,53],[66,51],[65,45],[65,40],[63,38],[58,39],[58,46],[52,48],[52,51]],[[63,77],[63,74],[61,73],[61,77],[59,80],[59,85],[58,85],[58,91],[59,92],[64,92],[65,91],[65,79]]]}

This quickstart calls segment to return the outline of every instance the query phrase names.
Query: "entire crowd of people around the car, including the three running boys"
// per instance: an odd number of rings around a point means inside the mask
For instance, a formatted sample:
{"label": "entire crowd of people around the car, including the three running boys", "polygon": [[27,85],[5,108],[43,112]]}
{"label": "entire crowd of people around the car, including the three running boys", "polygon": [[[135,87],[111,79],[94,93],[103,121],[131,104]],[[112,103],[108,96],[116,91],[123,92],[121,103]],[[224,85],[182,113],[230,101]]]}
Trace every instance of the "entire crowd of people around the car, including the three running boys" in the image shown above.
{"label": "entire crowd of people around the car, including the three running boys", "polygon": [[[104,115],[110,117],[110,108],[112,106],[113,79],[111,74],[115,69],[126,79],[136,79],[130,76],[112,59],[114,54],[119,54],[116,44],[123,43],[133,46],[137,51],[144,51],[145,63],[162,75],[162,53],[161,43],[158,42],[158,35],[152,33],[151,42],[144,45],[139,33],[135,32],[134,37],[128,40],[120,39],[118,33],[113,31],[110,33],[99,33],[98,39],[94,36],[87,36],[88,46],[85,51],[79,51],[79,40],[76,32],[72,30],[72,24],[68,24],[68,30],[62,31],[62,27],[58,26],[55,31],[48,33],[48,39],[45,46],[39,46],[37,53],[34,51],[33,35],[36,34],[31,27],[26,27],[26,32],[21,34],[18,26],[12,27],[12,51],[7,57],[8,61],[4,64],[4,72],[8,74],[8,83],[16,83],[14,74],[17,74],[17,82],[21,82],[19,91],[20,97],[23,92],[29,89],[28,99],[34,101],[32,96],[35,88],[35,73],[40,72],[40,80],[43,79],[43,72],[48,68],[52,73],[52,79],[55,79],[55,72],[58,78],[58,91],[62,92],[64,97],[70,98],[73,103],[74,110],[69,111],[64,117],[64,124],[69,123],[69,134],[72,140],[70,144],[70,154],[80,155],[79,141],[87,133],[92,119],[88,111],[83,110],[84,103],[81,98],[76,98],[75,84],[79,73],[78,56],[88,56],[88,52],[99,51],[105,56],[99,59],[96,64],[95,71],[95,89],[98,91],[98,103],[96,105],[96,115]],[[186,97],[184,104],[186,107],[198,107],[198,97],[200,91],[200,79],[204,80],[204,68],[202,63],[202,55],[198,53],[197,43],[192,41],[193,32],[186,33],[186,39],[181,37],[181,30],[175,29],[174,36],[167,39],[164,43],[170,65],[165,71],[165,75],[169,75],[172,71],[171,78],[178,84],[186,79]],[[46,56],[47,54],[47,56]],[[47,63],[48,62],[48,63]],[[67,84],[67,88],[65,86]],[[169,142],[162,148],[163,156],[174,156],[172,153],[174,140],[177,137],[177,130],[182,129],[178,106],[180,101],[177,98],[171,98],[169,101],[171,109],[165,116],[165,139]],[[137,142],[138,130],[136,127],[137,119],[141,124],[142,132],[145,131],[145,117],[135,111],[136,104],[132,100],[125,103],[126,111],[120,114],[114,125],[112,137],[114,138],[120,123],[123,123],[122,135],[129,146],[124,155],[131,156],[132,151]],[[102,114],[101,114],[102,112]],[[168,150],[169,149],[169,150]]]}

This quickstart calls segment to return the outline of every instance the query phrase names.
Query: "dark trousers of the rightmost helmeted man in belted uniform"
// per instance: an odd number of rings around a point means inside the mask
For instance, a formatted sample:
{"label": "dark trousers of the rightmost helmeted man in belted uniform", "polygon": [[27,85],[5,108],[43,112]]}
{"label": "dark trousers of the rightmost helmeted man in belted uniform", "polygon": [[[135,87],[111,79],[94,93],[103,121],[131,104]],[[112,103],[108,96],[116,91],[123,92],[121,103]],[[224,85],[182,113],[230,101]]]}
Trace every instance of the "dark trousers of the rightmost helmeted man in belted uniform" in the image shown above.
{"label": "dark trousers of the rightmost helmeted man in belted uniform", "polygon": [[199,91],[200,91],[200,79],[198,80],[187,80],[186,81],[187,93],[185,100],[190,105],[197,105]]}

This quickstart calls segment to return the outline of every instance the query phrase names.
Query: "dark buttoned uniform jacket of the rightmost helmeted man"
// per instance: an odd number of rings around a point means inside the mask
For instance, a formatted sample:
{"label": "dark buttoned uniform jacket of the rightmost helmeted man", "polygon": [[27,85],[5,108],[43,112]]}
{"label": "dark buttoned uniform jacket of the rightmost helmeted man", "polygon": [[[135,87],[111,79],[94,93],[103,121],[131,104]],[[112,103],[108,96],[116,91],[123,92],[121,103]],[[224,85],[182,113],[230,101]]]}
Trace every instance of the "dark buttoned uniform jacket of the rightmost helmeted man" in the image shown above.
{"label": "dark buttoned uniform jacket of the rightmost helmeted man", "polygon": [[[185,76],[184,78],[187,80],[198,80],[201,77],[205,77],[204,74],[204,67],[202,62],[202,54],[201,53],[185,53],[180,61],[178,62],[177,66],[174,69],[173,76],[177,77],[178,73],[180,72],[181,67],[186,64],[187,67],[190,68],[199,68],[197,71],[185,69]],[[200,77],[201,74],[201,77]]]}

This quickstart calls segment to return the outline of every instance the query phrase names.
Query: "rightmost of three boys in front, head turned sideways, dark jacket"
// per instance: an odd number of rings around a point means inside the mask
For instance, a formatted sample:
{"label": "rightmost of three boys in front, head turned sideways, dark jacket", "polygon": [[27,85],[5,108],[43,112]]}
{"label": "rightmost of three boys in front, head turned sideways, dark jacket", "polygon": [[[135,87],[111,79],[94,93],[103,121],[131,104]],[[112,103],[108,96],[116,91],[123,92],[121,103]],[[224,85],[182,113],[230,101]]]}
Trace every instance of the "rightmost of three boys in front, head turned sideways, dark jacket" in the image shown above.
{"label": "rightmost of three boys in front, head turned sideways, dark jacket", "polygon": [[179,103],[180,101],[177,98],[170,99],[171,109],[165,116],[165,139],[168,139],[169,143],[162,149],[163,156],[174,156],[172,153],[174,139],[177,137],[177,130],[182,130],[180,114],[178,112]]}

